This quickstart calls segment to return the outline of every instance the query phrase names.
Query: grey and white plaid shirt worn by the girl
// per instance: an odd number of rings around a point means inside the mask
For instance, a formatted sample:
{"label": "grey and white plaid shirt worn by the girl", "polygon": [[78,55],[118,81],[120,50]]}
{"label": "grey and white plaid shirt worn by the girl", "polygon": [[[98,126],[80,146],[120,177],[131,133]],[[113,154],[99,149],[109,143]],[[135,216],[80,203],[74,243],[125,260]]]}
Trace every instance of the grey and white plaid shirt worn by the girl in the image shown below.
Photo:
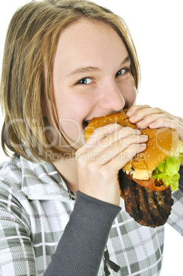
{"label": "grey and white plaid shirt worn by the girl", "polygon": [[[43,275],[73,211],[75,197],[49,163],[13,157],[0,171],[0,275]],[[183,194],[172,194],[169,223],[183,235]],[[108,238],[111,275],[160,275],[164,227],[142,227],[126,212],[114,220]],[[103,261],[99,276],[105,275]],[[81,275],[83,276],[83,275]]]}

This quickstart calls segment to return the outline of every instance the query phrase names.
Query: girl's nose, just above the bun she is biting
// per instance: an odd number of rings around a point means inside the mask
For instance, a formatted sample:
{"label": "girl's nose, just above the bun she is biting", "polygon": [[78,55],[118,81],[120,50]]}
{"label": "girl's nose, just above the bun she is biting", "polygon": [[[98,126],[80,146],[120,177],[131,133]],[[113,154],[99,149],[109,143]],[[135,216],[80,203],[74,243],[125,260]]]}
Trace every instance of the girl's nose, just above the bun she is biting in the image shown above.
{"label": "girl's nose, just above the bun she is biting", "polygon": [[99,99],[99,107],[107,113],[121,111],[125,106],[125,99],[115,82],[108,82],[101,88],[101,97]]}

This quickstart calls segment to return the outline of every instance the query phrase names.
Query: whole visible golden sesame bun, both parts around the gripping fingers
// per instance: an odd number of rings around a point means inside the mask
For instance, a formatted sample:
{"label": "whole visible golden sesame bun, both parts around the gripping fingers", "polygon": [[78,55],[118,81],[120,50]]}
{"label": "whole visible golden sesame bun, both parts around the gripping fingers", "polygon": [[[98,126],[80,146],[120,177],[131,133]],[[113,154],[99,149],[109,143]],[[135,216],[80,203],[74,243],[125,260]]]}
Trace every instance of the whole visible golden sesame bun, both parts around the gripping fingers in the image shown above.
{"label": "whole visible golden sesame bun, both parts around the gripping fingers", "polygon": [[[94,132],[96,128],[106,126],[107,124],[120,124],[124,127],[138,129],[135,124],[131,124],[127,115],[127,110],[119,113],[113,113],[103,117],[91,119],[85,132],[85,139]],[[178,156],[179,138],[175,130],[171,128],[145,128],[141,130],[142,135],[148,135],[147,148],[145,151],[136,154],[124,167],[123,171],[129,174],[133,173],[136,179],[149,179],[156,167],[167,157]]]}

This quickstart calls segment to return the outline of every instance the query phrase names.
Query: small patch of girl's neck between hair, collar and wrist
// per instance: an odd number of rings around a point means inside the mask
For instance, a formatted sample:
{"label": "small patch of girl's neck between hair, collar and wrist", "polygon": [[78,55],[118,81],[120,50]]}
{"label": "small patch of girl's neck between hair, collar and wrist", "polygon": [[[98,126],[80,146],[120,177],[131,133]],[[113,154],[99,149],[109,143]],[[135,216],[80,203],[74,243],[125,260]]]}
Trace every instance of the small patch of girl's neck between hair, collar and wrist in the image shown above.
{"label": "small patch of girl's neck between hair, collar and wrist", "polygon": [[77,179],[77,164],[75,158],[71,159],[62,159],[58,162],[53,162],[53,165],[58,170],[59,174],[64,179],[66,185],[75,195],[75,192],[78,189],[78,179]]}

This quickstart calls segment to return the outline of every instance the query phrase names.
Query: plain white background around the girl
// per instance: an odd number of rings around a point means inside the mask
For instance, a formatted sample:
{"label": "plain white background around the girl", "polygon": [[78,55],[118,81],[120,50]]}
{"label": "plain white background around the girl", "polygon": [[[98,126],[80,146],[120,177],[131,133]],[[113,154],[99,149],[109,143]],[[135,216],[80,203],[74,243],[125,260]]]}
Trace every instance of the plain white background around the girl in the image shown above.
{"label": "plain white background around the girl", "polygon": [[[0,3],[0,63],[8,23],[19,6],[29,1]],[[125,19],[141,65],[141,87],[137,104],[158,106],[183,117],[182,110],[182,1],[181,0],[95,0]],[[0,129],[2,126],[0,113]],[[0,149],[0,161],[7,159]],[[183,239],[165,225],[164,260],[161,276],[183,275]]]}

